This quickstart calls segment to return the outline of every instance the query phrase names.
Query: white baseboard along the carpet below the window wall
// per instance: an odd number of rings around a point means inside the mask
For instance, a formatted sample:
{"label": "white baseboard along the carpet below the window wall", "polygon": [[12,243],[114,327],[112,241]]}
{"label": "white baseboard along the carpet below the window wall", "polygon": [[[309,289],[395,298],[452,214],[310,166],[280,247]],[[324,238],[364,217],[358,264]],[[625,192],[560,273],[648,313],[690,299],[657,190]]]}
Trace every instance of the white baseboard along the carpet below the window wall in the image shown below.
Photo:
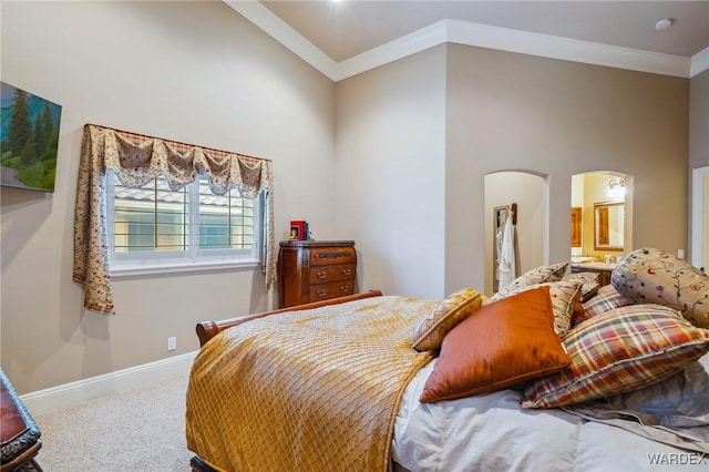
{"label": "white baseboard along the carpet below the window wall", "polygon": [[20,396],[32,415],[189,372],[197,351]]}

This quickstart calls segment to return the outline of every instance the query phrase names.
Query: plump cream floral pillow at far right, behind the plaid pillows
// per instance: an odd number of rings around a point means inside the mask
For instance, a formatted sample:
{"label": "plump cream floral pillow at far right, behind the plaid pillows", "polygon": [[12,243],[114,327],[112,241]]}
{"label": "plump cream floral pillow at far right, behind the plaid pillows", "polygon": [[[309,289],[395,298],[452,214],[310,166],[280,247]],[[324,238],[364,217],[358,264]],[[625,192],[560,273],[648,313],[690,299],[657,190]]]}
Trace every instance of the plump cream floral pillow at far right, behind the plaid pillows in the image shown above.
{"label": "plump cream floral pillow at far right, behind the plaid pillows", "polygon": [[610,283],[630,302],[666,305],[709,328],[709,276],[672,254],[634,250],[613,269]]}

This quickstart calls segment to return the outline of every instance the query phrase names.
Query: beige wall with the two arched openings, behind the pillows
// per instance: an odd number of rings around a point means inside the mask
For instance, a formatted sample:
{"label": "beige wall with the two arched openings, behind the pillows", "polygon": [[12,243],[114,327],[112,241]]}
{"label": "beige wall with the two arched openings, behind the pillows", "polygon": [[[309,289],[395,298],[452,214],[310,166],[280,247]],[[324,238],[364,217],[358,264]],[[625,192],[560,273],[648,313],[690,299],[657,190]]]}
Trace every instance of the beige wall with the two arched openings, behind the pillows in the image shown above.
{"label": "beige wall with the two arched openings, behind the pillows", "polygon": [[496,171],[547,176],[546,261],[568,259],[572,175],[590,171],[635,177],[633,247],[686,248],[688,82],[449,44],[446,291],[484,284],[483,176]]}

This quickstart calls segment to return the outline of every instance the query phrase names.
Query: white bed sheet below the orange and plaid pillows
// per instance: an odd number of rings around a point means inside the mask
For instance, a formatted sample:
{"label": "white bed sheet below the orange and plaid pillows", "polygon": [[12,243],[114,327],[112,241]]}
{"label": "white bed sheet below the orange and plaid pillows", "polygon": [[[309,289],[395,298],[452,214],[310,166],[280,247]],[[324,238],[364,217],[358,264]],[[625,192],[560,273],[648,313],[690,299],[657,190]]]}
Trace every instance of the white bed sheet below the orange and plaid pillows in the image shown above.
{"label": "white bed sheet below the orange and plaid pillows", "polygon": [[392,460],[413,472],[709,471],[709,454],[558,409],[521,409],[513,390],[421,403],[434,363],[409,383],[394,422]]}

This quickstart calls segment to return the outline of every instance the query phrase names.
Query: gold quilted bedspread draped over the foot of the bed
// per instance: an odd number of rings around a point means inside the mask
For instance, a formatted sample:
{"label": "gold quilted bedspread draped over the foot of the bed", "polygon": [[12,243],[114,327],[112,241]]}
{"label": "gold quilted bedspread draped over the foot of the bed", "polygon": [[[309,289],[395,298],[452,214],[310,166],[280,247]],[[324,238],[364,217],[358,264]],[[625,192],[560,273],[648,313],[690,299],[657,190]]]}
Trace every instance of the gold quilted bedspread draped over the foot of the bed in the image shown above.
{"label": "gold quilted bedspread draped over the foot of the bed", "polygon": [[229,328],[195,359],[187,447],[219,471],[388,471],[403,390],[438,305],[383,296]]}

